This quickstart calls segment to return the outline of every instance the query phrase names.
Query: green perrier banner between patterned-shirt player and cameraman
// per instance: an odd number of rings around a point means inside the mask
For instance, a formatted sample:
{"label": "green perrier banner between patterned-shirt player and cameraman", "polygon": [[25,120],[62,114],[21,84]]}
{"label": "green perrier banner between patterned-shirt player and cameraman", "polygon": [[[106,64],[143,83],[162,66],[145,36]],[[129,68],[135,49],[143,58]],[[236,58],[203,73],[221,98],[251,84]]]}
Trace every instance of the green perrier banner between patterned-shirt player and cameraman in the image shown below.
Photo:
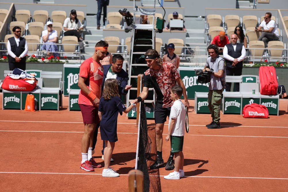
{"label": "green perrier banner between patterned-shirt player and cameraman", "polygon": [[[185,85],[188,99],[194,99],[196,92],[208,92],[209,83],[198,83],[198,76],[195,75],[196,69],[203,69],[200,67],[179,67],[180,76]],[[183,96],[182,96],[183,98]]]}

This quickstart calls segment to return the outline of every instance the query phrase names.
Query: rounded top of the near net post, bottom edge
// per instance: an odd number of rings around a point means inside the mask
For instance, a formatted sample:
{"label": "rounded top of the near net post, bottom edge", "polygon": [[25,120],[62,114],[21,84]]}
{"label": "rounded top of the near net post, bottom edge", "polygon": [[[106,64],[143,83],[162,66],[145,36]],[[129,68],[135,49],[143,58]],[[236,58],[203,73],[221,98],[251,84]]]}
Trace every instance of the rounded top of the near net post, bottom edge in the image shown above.
{"label": "rounded top of the near net post, bottom edge", "polygon": [[143,172],[137,169],[129,171],[128,188],[129,192],[142,192],[144,186]]}

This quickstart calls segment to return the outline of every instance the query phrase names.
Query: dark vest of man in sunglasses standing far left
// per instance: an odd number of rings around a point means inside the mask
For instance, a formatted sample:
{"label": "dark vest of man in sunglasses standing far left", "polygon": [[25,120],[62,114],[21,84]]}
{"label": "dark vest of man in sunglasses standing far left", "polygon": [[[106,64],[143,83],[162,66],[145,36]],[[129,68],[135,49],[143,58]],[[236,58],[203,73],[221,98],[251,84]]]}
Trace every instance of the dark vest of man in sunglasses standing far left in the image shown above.
{"label": "dark vest of man in sunglasses standing far left", "polygon": [[[19,46],[17,46],[17,43],[15,41],[14,37],[10,37],[9,39],[10,45],[11,45],[11,51],[17,56],[19,57],[24,51],[25,51],[25,42],[26,39],[24,39],[23,37],[20,37],[20,41],[19,41]],[[13,57],[11,57],[10,55],[8,55],[8,62],[9,63],[14,63],[15,59]],[[26,63],[26,56],[24,56],[23,58],[21,58],[21,61],[19,62],[19,64],[25,64]]]}

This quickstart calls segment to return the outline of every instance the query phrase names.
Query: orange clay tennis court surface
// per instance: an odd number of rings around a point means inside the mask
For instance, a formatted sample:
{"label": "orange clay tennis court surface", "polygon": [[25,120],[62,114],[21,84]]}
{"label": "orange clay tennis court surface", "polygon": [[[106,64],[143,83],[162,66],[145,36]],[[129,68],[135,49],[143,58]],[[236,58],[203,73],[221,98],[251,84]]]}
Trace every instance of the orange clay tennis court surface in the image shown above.
{"label": "orange clay tennis court surface", "polygon": [[[2,94],[0,100],[2,106]],[[214,130],[205,127],[210,115],[195,114],[194,100],[189,101],[185,178],[165,180],[171,171],[160,168],[162,191],[287,191],[287,99],[280,99],[279,116],[244,119],[221,114],[223,128]],[[128,191],[128,172],[135,166],[136,120],[118,117],[119,140],[111,167],[120,177],[102,177],[103,168],[80,170],[81,112],[68,110],[68,97],[63,105],[60,111],[0,110],[1,191]],[[165,124],[165,134],[167,129]],[[94,156],[104,166],[100,134],[98,139]],[[166,161],[170,142],[163,143]]]}

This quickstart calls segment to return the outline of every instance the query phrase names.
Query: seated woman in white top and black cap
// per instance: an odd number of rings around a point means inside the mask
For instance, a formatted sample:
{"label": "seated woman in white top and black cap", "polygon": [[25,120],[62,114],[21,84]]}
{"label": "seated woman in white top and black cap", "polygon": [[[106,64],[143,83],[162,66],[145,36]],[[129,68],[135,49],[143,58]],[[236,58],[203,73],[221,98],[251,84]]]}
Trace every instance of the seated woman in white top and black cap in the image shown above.
{"label": "seated woman in white top and black cap", "polygon": [[63,24],[64,36],[76,36],[78,41],[82,41],[80,37],[81,30],[84,28],[84,25],[77,19],[76,10],[72,9],[70,12],[70,17],[64,20]]}

